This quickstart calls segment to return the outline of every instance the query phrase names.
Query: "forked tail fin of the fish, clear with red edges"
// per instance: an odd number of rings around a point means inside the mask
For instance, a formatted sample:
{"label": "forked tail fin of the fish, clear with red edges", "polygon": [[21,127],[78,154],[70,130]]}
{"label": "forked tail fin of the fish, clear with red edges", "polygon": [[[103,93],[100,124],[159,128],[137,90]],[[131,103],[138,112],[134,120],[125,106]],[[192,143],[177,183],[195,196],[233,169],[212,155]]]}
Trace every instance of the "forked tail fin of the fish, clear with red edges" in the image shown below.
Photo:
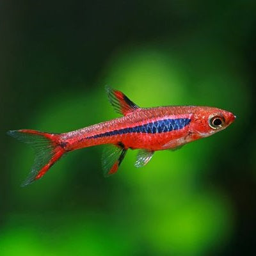
{"label": "forked tail fin of the fish, clear with red edges", "polygon": [[31,172],[21,186],[26,186],[43,177],[52,164],[56,163],[65,153],[59,143],[59,134],[26,129],[8,131],[7,134],[29,144],[35,151],[35,161]]}

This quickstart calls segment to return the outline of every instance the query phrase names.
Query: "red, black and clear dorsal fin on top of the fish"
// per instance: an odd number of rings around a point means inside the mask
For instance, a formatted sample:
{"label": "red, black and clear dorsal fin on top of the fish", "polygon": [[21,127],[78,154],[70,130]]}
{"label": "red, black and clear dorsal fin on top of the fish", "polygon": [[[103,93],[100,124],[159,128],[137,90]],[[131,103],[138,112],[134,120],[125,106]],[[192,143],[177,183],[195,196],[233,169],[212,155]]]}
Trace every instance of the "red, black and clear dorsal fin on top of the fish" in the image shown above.
{"label": "red, black and clear dorsal fin on top of the fish", "polygon": [[106,86],[106,92],[108,94],[109,102],[117,113],[127,115],[139,108],[134,102],[125,96],[124,93],[120,91],[113,90],[109,86]]}

